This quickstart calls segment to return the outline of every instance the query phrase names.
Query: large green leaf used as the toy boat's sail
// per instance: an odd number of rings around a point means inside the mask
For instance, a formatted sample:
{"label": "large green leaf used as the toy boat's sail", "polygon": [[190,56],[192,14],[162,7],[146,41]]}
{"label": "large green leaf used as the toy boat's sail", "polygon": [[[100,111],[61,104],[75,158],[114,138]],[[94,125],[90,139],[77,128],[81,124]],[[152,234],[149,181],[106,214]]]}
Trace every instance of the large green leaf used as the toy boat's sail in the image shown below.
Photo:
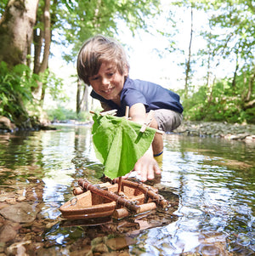
{"label": "large green leaf used as the toy boat's sail", "polygon": [[149,149],[156,130],[140,133],[141,125],[124,117],[94,114],[93,119],[95,154],[105,165],[105,175],[114,179],[128,174]]}

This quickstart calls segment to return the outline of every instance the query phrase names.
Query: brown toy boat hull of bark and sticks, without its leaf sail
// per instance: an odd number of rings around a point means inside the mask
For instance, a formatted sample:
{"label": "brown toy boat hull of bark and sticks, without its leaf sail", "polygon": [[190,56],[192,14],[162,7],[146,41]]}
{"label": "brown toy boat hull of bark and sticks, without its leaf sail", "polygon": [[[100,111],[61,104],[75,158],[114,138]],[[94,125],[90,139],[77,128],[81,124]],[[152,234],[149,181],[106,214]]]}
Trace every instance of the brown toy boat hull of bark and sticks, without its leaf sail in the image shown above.
{"label": "brown toy boat hull of bark and sticks, without its leaf sail", "polygon": [[144,213],[157,206],[167,208],[168,202],[158,195],[156,188],[126,179],[93,185],[87,179],[79,179],[76,195],[60,208],[64,219],[94,219],[111,216],[122,219]]}

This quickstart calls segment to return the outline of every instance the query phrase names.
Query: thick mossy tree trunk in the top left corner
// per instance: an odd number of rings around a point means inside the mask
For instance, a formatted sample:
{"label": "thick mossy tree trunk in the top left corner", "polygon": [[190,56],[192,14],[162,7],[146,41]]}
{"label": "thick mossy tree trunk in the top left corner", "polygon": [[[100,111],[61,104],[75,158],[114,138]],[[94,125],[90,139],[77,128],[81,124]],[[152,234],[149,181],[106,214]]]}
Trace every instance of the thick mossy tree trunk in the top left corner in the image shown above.
{"label": "thick mossy tree trunk in the top left corner", "polygon": [[10,0],[0,20],[0,61],[26,64],[39,0]]}

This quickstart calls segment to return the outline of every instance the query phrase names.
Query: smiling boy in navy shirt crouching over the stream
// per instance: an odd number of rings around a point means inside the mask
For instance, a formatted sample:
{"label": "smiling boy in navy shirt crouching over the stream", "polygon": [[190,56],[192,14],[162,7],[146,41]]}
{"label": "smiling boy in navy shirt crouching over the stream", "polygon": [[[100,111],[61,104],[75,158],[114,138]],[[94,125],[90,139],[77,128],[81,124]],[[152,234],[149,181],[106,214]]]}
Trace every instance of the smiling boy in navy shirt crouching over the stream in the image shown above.
{"label": "smiling boy in navy shirt crouching over the stream", "polygon": [[[104,111],[116,109],[117,116],[122,117],[128,105],[131,120],[144,124],[146,113],[154,110],[151,128],[165,132],[178,128],[183,112],[178,94],[152,82],[132,80],[128,71],[124,49],[111,38],[92,37],[83,44],[78,54],[78,76],[92,86],[91,96],[100,100]],[[154,156],[161,156],[162,152],[163,138],[161,134],[156,134],[149,150],[133,168],[142,181],[154,179],[155,173],[161,174]]]}

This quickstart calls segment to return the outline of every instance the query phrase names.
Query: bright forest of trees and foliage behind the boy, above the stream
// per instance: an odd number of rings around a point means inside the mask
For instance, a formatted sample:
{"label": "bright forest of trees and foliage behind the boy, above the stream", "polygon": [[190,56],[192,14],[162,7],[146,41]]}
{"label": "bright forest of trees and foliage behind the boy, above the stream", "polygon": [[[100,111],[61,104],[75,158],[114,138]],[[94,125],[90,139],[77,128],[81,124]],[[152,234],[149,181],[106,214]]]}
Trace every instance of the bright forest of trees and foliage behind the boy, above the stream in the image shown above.
{"label": "bright forest of trees and foliage behind the boy, above the stream", "polygon": [[[128,33],[144,48],[144,38],[151,38],[146,35],[155,38],[151,56],[159,62],[151,57],[150,66],[157,71],[161,65],[163,72],[152,82],[180,94],[186,120],[255,123],[252,0],[3,0],[0,17],[0,116],[18,128],[87,121],[96,107],[90,87],[75,69],[66,79],[52,68],[56,54],[62,65],[74,67],[82,43],[103,34],[132,55],[136,45]],[[134,69],[146,66],[139,60]],[[68,107],[73,101],[75,107]]]}

